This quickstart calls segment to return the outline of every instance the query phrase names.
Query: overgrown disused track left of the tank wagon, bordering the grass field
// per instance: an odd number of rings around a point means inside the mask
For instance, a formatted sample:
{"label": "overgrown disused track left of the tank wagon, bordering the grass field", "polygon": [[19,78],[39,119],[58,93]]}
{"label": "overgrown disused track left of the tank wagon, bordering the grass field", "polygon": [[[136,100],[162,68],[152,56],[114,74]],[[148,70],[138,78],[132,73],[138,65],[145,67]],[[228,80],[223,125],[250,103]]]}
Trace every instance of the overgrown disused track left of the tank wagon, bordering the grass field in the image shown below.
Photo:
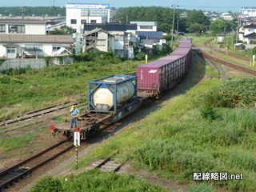
{"label": "overgrown disused track left of the tank wagon, bordering the grass field", "polygon": [[29,113],[22,114],[18,117],[15,117],[15,118],[2,119],[2,120],[0,120],[0,129],[1,128],[6,128],[7,126],[13,125],[14,123],[17,123],[17,122],[24,122],[24,121],[29,121],[33,118],[42,117],[45,114],[51,114],[51,113],[56,112],[58,110],[63,110],[68,106],[78,105],[80,103],[82,103],[82,102],[75,102],[75,103],[65,102],[65,103],[63,103],[62,105],[59,105],[59,106],[49,106],[49,107],[46,107],[46,108],[43,108],[43,109],[40,109],[40,110],[34,110],[34,111],[29,112]]}

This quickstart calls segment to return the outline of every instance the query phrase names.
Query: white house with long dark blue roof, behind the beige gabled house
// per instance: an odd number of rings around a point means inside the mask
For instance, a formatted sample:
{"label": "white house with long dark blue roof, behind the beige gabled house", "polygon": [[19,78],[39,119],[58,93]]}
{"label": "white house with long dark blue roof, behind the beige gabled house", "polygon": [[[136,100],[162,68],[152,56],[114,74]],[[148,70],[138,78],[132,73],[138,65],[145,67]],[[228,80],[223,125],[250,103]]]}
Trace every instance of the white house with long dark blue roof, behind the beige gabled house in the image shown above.
{"label": "white house with long dark blue roof, behind the beige gabled house", "polygon": [[120,57],[134,58],[134,44],[137,43],[135,30],[137,30],[136,24],[126,23],[96,23],[85,24],[84,31],[90,33],[90,31],[96,28],[101,28],[114,36],[114,54]]}

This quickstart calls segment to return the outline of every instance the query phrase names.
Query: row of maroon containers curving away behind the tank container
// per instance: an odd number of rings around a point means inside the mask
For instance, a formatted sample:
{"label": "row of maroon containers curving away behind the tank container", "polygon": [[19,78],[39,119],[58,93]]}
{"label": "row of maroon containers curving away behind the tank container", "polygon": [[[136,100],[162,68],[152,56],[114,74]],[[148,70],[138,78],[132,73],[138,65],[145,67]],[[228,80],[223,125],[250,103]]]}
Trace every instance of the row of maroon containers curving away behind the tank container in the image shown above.
{"label": "row of maroon containers curving away behind the tank container", "polygon": [[154,62],[138,66],[138,90],[159,95],[162,90],[169,90],[175,86],[188,70],[191,62],[191,49],[191,40],[182,39],[173,53]]}

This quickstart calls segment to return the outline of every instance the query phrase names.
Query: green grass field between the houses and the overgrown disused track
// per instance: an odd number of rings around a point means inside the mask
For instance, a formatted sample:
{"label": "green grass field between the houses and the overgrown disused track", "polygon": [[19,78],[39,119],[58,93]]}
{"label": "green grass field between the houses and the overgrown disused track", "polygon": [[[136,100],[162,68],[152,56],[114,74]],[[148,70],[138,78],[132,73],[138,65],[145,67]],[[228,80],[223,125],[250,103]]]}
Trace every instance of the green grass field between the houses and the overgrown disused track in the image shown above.
{"label": "green grass field between the houses and the overgrown disused track", "polygon": [[[150,61],[161,57],[150,56]],[[0,118],[8,118],[26,111],[56,103],[72,101],[87,94],[87,83],[110,74],[135,72],[142,61],[122,60],[110,53],[82,54],[68,66],[49,66],[42,70],[7,70],[0,74]]]}

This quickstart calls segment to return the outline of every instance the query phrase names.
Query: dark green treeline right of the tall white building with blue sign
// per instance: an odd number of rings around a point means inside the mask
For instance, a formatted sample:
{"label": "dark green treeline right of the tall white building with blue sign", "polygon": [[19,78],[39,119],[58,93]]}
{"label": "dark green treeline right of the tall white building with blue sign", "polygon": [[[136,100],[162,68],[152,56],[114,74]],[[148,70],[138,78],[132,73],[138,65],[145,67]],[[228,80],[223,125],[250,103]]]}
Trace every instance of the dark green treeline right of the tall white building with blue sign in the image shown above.
{"label": "dark green treeline right of the tall white building with blue sign", "polygon": [[[186,12],[187,17],[181,18],[180,15]],[[158,30],[170,33],[173,25],[173,8],[165,8],[159,6],[149,7],[127,7],[119,8],[118,14],[114,16],[116,22],[144,21],[157,22]],[[174,32],[190,32],[201,34],[207,30],[211,30],[214,34],[223,33],[236,28],[236,20],[225,21],[217,19],[210,22],[210,17],[206,16],[202,10],[182,10],[176,9],[174,15]],[[225,29],[225,30],[224,30]]]}

